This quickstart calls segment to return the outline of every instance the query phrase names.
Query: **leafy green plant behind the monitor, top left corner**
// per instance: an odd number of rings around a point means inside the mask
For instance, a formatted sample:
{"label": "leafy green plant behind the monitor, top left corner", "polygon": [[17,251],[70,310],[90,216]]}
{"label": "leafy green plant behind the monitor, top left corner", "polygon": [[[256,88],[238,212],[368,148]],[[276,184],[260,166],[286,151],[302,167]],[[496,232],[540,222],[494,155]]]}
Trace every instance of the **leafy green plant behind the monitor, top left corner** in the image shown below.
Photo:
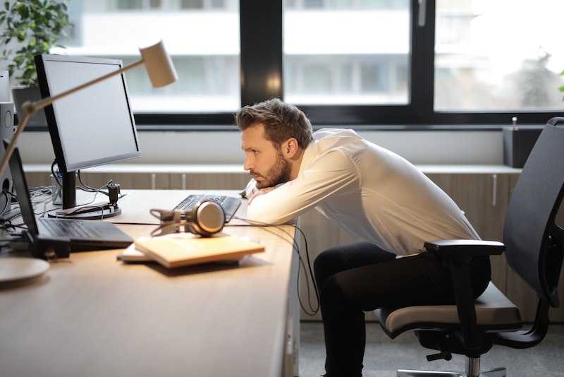
{"label": "leafy green plant behind the monitor, top left corner", "polygon": [[[8,61],[10,76],[20,85],[37,86],[34,56],[48,54],[57,41],[66,37],[71,28],[68,22],[67,6],[56,0],[5,1],[0,11],[0,45],[4,61]],[[15,52],[8,46],[17,41]],[[62,47],[56,45],[56,47]]]}

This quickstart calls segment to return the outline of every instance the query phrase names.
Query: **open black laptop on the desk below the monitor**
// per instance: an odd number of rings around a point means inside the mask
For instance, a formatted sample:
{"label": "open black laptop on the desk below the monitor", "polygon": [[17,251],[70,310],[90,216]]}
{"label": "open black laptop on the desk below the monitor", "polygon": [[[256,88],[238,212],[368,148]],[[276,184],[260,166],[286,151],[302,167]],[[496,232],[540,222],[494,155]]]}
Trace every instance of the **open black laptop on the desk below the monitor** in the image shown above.
{"label": "open black laptop on the desk below the monitor", "polygon": [[[7,143],[4,141],[4,148],[6,147]],[[10,157],[10,169],[23,221],[32,241],[37,236],[69,239],[71,251],[123,249],[133,243],[131,237],[111,222],[42,217],[36,220],[18,148]]]}

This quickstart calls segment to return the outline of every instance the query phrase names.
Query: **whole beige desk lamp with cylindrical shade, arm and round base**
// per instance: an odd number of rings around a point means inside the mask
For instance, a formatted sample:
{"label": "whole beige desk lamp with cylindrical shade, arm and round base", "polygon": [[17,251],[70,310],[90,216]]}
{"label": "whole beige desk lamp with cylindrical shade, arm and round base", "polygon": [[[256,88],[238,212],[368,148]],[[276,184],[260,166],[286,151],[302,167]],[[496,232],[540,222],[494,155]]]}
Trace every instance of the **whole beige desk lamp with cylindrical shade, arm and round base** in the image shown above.
{"label": "whole beige desk lamp with cylindrical shade, arm and round base", "polygon": [[[61,98],[64,98],[68,95],[72,95],[74,92],[88,88],[91,85],[104,81],[107,78],[119,75],[125,71],[130,70],[131,68],[135,68],[142,64],[145,64],[145,68],[147,68],[147,74],[149,75],[151,84],[155,88],[160,88],[162,86],[174,83],[178,79],[171,57],[166,53],[162,41],[139,50],[142,56],[142,59],[140,61],[136,61],[133,64],[108,73],[102,77],[95,78],[94,80],[88,81],[87,83],[78,85],[77,87],[66,90],[65,92],[59,93],[58,95],[53,95],[37,102],[25,102],[22,105],[22,117],[21,121],[19,122],[20,124],[18,124],[16,132],[13,134],[10,144],[8,145],[8,148],[4,153],[4,158],[2,159],[2,162],[0,164],[0,174],[6,168],[13,150],[14,148],[16,148],[16,141],[18,140],[20,133],[22,133],[23,129],[27,125],[27,121],[29,121],[30,117],[35,114],[35,112],[44,109],[56,100],[60,100]],[[23,259],[25,259],[26,261],[22,261]],[[25,277],[41,275],[42,273],[47,271],[48,268],[49,265],[47,263],[37,259],[34,260],[33,258],[1,258],[0,284],[2,282],[6,282],[7,280],[15,281],[21,280]]]}

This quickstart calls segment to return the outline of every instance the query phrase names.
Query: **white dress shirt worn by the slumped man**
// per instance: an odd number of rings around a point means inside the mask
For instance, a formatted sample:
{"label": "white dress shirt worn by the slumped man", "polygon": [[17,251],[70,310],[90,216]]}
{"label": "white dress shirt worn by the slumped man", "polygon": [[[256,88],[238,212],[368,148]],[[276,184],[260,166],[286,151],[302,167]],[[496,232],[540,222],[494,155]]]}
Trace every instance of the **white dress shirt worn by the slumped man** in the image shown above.
{"label": "white dress shirt worn by the slumped man", "polygon": [[[248,195],[255,184],[247,185]],[[425,241],[479,239],[458,205],[419,169],[348,129],[315,132],[298,176],[254,198],[247,217],[282,224],[314,207],[398,256],[421,252]]]}

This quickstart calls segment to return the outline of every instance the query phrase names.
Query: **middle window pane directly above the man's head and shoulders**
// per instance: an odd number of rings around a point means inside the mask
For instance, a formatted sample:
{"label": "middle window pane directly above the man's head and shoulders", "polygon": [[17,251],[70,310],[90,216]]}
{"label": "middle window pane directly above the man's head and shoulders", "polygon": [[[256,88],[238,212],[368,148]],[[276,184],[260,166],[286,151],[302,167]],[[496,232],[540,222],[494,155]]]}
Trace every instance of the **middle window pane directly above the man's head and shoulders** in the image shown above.
{"label": "middle window pane directly above the man's head and shoulders", "polygon": [[287,2],[283,41],[288,102],[408,102],[407,76],[396,75],[410,61],[408,0]]}

